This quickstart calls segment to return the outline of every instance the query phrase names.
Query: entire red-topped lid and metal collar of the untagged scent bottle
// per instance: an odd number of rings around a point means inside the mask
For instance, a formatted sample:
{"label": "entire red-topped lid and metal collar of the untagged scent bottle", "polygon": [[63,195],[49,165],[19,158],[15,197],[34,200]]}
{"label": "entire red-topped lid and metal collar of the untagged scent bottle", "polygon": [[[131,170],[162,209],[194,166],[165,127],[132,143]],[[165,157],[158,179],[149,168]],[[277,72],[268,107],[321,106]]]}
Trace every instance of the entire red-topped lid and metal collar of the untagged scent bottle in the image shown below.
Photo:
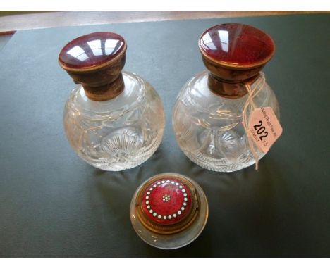
{"label": "entire red-topped lid and metal collar of the untagged scent bottle", "polygon": [[121,70],[126,61],[126,41],[114,32],[92,32],[66,44],[59,65],[89,99],[106,101],[123,92]]}

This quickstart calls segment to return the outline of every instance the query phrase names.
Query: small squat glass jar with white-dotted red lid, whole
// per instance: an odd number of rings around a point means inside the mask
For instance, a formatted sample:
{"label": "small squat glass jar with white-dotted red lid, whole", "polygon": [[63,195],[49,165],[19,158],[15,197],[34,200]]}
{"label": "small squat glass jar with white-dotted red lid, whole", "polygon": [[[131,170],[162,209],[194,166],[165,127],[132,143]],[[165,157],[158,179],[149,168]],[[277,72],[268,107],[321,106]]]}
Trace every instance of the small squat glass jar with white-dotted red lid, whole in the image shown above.
{"label": "small squat glass jar with white-dotted red lid, whole", "polygon": [[130,218],[135,231],[152,246],[176,249],[204,229],[208,205],[202,188],[176,173],[150,177],[135,192]]}

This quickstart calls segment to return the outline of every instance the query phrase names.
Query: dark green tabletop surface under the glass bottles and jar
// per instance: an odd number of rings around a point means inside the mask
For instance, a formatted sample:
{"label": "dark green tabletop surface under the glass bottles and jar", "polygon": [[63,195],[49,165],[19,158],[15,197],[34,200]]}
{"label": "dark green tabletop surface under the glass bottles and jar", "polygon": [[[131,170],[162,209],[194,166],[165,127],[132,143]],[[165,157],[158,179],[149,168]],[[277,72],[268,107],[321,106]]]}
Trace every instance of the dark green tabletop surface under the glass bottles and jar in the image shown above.
{"label": "dark green tabletop surface under the glass bottles and jar", "polygon": [[[204,69],[197,39],[208,27],[247,23],[276,42],[264,68],[281,107],[282,137],[254,167],[214,173],[178,148],[171,109]],[[19,31],[0,51],[0,256],[330,256],[330,15],[123,23]],[[112,31],[128,42],[125,70],[149,80],[166,108],[156,154],[104,172],[66,141],[63,106],[75,87],[57,57],[71,39]],[[209,200],[195,242],[164,251],[130,224],[135,189],[157,173],[188,175]]]}

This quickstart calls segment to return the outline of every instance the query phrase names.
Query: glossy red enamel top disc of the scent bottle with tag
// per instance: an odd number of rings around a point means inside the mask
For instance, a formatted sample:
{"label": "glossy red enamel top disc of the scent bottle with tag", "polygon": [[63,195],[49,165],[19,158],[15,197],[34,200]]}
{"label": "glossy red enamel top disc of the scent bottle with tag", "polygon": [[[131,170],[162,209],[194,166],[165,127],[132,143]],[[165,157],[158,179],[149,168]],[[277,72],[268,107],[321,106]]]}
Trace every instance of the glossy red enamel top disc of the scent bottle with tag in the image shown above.
{"label": "glossy red enamel top disc of the scent bottle with tag", "polygon": [[274,42],[262,30],[250,25],[226,23],[207,29],[199,40],[207,61],[228,68],[256,68],[274,55]]}

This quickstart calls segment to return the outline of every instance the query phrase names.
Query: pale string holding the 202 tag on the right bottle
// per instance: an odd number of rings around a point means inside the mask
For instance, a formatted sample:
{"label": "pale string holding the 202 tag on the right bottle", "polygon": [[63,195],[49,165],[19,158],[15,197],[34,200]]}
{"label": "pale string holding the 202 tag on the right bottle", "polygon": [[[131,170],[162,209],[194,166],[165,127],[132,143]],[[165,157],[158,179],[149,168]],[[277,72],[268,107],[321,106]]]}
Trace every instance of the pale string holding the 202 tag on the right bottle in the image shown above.
{"label": "pale string holding the 202 tag on the right bottle", "polygon": [[[249,96],[247,97],[247,100],[245,101],[245,105],[243,108],[243,115],[242,115],[243,126],[245,129],[245,133],[247,134],[248,146],[250,148],[250,151],[252,152],[253,157],[255,158],[255,170],[258,170],[259,156],[257,154],[257,150],[258,150],[257,146],[253,142],[251,134],[248,130],[249,118],[250,118],[249,115],[251,115],[252,111],[255,108],[257,108],[253,99],[255,98],[255,96],[257,96],[257,94],[259,94],[260,91],[262,91],[262,89],[264,89],[265,83],[266,83],[266,80],[264,79],[264,73],[260,72],[257,82],[253,83],[252,85],[250,85],[250,83],[244,84]],[[251,113],[248,113],[249,108],[250,108]]]}

